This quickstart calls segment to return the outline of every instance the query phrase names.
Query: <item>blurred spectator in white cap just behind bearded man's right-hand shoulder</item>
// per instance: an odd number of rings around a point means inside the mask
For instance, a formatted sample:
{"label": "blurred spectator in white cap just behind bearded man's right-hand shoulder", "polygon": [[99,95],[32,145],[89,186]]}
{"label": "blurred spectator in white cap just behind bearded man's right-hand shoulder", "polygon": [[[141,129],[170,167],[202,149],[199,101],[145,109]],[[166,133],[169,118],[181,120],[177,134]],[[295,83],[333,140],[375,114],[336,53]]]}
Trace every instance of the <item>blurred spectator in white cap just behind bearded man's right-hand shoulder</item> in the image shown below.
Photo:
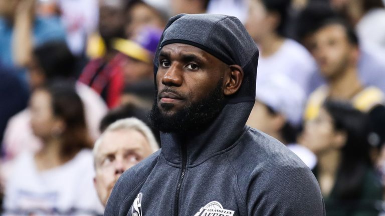
{"label": "blurred spectator in white cap just behind bearded man's right-hand shoulder", "polygon": [[290,78],[272,75],[258,85],[256,102],[246,124],[278,139],[313,168],[317,161],[315,155],[296,144],[305,96],[303,89]]}

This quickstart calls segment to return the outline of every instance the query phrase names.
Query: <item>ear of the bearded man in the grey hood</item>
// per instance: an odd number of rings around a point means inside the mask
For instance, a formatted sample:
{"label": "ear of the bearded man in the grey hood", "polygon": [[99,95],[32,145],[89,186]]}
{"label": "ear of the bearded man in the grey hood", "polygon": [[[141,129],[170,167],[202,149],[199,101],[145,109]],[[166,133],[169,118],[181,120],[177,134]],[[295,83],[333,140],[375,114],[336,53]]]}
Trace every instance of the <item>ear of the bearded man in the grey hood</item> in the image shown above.
{"label": "ear of the bearded man in the grey hood", "polygon": [[226,96],[232,95],[235,92],[238,91],[238,89],[241,87],[242,80],[243,80],[243,69],[238,64],[229,65],[230,72],[228,74],[228,77],[226,78],[226,83],[224,87],[224,94]]}

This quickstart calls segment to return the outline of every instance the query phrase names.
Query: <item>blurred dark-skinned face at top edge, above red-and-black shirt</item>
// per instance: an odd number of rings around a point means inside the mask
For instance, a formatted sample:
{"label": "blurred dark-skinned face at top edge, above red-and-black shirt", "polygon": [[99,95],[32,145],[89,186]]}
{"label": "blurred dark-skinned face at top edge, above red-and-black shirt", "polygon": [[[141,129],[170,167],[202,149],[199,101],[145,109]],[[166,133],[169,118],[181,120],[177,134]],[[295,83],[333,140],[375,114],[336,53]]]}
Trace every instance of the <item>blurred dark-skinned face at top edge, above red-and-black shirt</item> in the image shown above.
{"label": "blurred dark-skinned face at top edge, above red-and-black shirt", "polygon": [[124,13],[120,0],[99,1],[99,32],[105,39],[124,37]]}

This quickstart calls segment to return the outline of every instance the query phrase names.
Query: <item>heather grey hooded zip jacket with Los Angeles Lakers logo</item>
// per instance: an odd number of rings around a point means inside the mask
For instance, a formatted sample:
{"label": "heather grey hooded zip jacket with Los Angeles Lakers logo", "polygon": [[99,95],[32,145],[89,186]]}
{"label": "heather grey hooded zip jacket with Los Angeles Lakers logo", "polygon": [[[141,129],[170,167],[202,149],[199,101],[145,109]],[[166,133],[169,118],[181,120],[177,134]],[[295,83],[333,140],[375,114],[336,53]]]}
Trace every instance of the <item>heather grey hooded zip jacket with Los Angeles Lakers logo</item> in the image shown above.
{"label": "heather grey hooded zip jacket with Los Angeles Lakers logo", "polygon": [[[245,125],[254,104],[258,48],[241,22],[179,14],[168,21],[156,56],[173,42],[241,65],[241,89],[203,132],[161,133],[162,149],[122,174],[104,214],[325,215],[309,168],[278,140]],[[157,57],[154,62],[156,74]]]}

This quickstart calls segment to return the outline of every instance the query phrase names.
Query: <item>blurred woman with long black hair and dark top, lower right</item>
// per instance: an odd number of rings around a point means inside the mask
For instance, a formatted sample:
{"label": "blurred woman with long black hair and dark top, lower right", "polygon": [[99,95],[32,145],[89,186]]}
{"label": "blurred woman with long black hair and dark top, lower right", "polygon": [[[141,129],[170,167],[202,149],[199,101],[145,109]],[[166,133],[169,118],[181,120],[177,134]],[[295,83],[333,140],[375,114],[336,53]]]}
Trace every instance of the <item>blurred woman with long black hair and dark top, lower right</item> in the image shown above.
{"label": "blurred woman with long black hair and dark top, lower right", "polygon": [[326,101],[305,126],[303,141],[318,157],[314,173],[327,216],[378,215],[382,186],[369,158],[367,129],[365,114],[336,101]]}

